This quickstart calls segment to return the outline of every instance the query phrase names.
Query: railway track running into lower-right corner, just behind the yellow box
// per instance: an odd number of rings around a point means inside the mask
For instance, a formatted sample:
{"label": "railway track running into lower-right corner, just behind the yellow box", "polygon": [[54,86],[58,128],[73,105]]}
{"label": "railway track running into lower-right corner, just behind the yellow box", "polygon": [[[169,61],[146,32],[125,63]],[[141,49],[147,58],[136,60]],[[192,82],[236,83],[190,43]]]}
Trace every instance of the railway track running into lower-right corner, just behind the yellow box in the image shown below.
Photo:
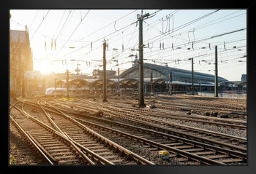
{"label": "railway track running into lower-right corner, just behind the yellow box", "polygon": [[[233,164],[236,162],[246,163],[246,154],[229,149],[223,149],[217,146],[211,146],[206,143],[192,141],[167,133],[157,132],[142,127],[136,127],[129,124],[121,124],[106,119],[86,116],[86,119],[77,119],[86,126],[99,132],[109,131],[119,136],[124,136],[132,140],[136,139],[151,147],[151,151],[165,149],[171,152],[170,159],[190,165],[199,164]],[[90,121],[89,121],[90,120]],[[91,120],[97,120],[92,122]],[[104,123],[104,124],[102,124]],[[107,127],[108,124],[108,127]],[[115,127],[113,127],[113,124]]]}

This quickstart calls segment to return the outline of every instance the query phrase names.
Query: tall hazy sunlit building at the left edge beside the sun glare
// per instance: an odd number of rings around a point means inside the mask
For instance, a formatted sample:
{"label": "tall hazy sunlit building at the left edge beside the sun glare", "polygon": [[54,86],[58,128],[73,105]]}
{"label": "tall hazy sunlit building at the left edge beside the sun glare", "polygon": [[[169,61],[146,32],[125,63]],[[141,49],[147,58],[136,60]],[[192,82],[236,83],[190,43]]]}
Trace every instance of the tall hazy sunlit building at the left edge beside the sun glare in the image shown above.
{"label": "tall hazy sunlit building at the left edge beside the sun glare", "polygon": [[29,31],[10,30],[10,94],[22,91],[25,71],[33,71]]}

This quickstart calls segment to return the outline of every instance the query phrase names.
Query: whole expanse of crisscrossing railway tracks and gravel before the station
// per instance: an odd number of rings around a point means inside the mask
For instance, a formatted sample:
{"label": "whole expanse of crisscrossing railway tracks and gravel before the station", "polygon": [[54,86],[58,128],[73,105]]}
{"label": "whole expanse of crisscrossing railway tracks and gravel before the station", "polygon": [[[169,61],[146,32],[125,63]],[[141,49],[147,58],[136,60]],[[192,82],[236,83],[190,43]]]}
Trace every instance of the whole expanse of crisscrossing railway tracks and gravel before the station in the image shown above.
{"label": "whole expanse of crisscrossing railway tracks and gravel before the station", "polygon": [[10,124],[39,164],[246,165],[245,100],[158,95],[146,97],[155,108],[138,108],[122,99],[18,98]]}

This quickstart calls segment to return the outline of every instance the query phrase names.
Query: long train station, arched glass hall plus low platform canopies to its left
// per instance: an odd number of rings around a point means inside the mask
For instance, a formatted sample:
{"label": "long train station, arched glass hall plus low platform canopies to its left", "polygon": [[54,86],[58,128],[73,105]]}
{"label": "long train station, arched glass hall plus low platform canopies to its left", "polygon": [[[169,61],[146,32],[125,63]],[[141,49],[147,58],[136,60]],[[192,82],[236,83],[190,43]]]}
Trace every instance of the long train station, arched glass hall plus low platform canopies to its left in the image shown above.
{"label": "long train station, arched glass hall plus low platform canopies to its left", "polygon": [[[143,72],[144,92],[169,92],[170,87],[173,93],[187,93],[192,90],[192,71],[144,63]],[[218,77],[218,81],[219,83],[228,82],[222,77]],[[131,68],[123,71],[119,76],[121,94],[137,93],[138,82],[138,63],[134,63]],[[102,83],[102,78],[69,79],[69,87],[77,89],[79,93],[81,91],[102,93]],[[66,87],[66,79],[59,79],[57,87]],[[214,75],[194,72],[194,87],[195,92],[214,91]],[[107,90],[108,93],[118,91],[118,76],[107,76]]]}

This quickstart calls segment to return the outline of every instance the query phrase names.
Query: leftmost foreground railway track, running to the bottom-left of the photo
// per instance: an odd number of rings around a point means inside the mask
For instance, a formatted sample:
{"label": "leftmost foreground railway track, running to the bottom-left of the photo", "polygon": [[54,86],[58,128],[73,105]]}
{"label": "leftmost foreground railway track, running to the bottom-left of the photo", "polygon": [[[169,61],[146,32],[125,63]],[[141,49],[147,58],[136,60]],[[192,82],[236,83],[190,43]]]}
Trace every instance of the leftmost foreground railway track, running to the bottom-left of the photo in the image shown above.
{"label": "leftmost foreground railway track, running to the bottom-left of the photo", "polygon": [[10,122],[18,127],[28,143],[50,165],[87,165],[90,163],[67,138],[26,114],[21,108],[12,105]]}

